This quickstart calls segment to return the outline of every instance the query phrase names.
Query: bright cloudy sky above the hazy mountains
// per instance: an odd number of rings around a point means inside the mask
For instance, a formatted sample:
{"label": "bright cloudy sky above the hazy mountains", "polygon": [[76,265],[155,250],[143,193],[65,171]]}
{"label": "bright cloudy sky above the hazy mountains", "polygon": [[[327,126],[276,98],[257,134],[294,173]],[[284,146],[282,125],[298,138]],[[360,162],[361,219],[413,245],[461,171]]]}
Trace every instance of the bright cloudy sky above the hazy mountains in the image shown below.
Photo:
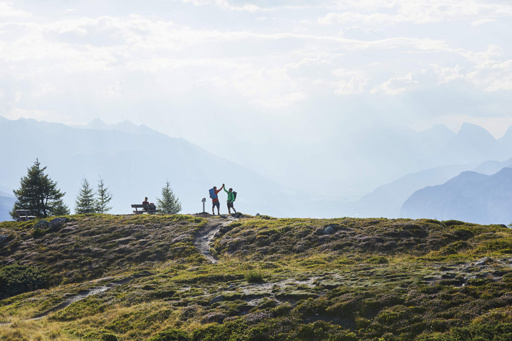
{"label": "bright cloudy sky above the hazy mountains", "polygon": [[0,0],[0,115],[130,120],[286,178],[376,127],[501,137],[511,32],[495,0]]}

